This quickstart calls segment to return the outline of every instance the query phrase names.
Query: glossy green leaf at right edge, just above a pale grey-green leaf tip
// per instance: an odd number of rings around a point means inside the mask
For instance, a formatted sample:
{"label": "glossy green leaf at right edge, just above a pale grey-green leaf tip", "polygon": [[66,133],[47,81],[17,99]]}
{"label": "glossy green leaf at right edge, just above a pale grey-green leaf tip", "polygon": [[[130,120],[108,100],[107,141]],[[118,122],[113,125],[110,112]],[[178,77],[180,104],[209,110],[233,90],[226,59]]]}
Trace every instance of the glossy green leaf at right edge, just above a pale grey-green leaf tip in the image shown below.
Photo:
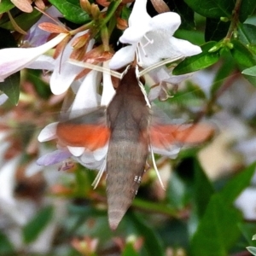
{"label": "glossy green leaf at right edge, just above a pale grey-green leaf tip", "polygon": [[237,40],[231,41],[233,49],[230,49],[231,55],[236,63],[241,67],[253,67],[256,65],[255,56],[247,47]]}

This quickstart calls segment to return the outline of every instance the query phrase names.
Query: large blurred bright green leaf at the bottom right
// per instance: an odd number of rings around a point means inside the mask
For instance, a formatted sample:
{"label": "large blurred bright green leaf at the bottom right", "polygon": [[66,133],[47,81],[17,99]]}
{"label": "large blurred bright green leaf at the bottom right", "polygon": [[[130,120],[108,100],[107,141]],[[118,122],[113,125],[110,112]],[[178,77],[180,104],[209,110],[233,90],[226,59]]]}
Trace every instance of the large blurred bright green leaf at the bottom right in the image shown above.
{"label": "large blurred bright green leaf at the bottom right", "polygon": [[190,251],[195,256],[226,256],[240,236],[237,223],[241,214],[213,195],[198,229],[191,240]]}

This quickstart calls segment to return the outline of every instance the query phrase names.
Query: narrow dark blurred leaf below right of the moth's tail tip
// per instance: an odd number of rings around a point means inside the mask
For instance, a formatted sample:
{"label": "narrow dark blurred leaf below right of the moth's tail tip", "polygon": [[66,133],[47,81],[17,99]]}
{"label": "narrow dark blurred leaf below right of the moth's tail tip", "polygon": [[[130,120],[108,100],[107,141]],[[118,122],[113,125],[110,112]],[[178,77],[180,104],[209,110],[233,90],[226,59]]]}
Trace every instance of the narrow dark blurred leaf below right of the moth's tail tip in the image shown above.
{"label": "narrow dark blurred leaf below right of the moth's tail tip", "polygon": [[152,225],[146,224],[145,220],[133,212],[129,212],[131,221],[134,223],[140,236],[144,238],[144,245],[148,255],[164,256],[164,248],[160,236]]}

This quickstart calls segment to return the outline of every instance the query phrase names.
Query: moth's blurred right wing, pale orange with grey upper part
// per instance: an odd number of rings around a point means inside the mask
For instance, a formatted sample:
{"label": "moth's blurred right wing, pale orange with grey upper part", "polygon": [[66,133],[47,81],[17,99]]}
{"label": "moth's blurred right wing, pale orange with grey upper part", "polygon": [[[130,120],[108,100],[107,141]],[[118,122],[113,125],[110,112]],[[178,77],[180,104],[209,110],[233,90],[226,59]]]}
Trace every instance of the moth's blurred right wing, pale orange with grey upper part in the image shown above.
{"label": "moth's blurred right wing, pale orange with grey upper part", "polygon": [[174,124],[159,109],[156,113],[153,113],[149,127],[149,137],[153,151],[168,156],[176,156],[183,145],[193,146],[207,141],[213,133],[214,128],[208,124]]}

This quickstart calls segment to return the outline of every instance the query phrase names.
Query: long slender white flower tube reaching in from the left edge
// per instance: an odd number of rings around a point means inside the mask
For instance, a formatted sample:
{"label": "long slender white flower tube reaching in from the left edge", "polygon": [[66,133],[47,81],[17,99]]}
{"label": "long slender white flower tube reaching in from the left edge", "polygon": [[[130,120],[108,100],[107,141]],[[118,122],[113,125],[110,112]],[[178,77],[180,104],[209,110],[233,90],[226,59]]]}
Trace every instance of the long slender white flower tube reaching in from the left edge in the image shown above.
{"label": "long slender white flower tube reaching in from the left edge", "polygon": [[61,33],[38,47],[0,49],[0,82],[22,68],[29,67],[40,55],[44,55],[46,51],[61,43],[66,37],[67,34]]}

